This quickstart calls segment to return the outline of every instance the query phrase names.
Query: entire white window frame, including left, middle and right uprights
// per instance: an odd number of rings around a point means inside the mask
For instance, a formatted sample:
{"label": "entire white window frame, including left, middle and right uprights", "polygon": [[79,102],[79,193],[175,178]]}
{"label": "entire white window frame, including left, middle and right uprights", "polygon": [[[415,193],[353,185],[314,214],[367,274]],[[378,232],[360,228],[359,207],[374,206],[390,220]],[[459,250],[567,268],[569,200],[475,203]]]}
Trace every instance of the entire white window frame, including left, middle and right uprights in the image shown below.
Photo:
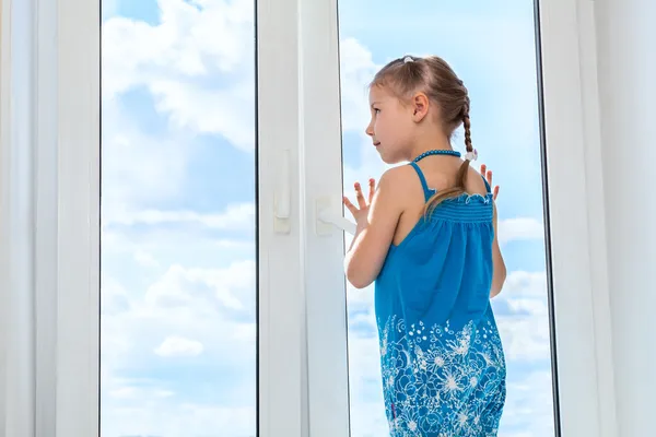
{"label": "entire white window frame, including left, middle and right uprights", "polygon": [[[0,430],[93,437],[99,2],[0,4]],[[257,4],[259,436],[345,436],[343,238],[317,220],[342,211],[337,0]],[[566,437],[617,427],[591,4],[540,1]]]}

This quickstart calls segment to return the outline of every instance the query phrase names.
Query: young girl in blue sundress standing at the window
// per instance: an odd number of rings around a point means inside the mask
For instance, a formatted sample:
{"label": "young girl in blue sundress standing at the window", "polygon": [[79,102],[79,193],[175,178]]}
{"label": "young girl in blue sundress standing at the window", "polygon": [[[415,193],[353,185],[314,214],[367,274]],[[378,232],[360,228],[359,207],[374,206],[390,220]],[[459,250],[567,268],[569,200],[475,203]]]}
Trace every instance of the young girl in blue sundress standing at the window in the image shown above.
{"label": "young girl in blue sundress standing at the window", "polygon": [[[438,57],[407,56],[370,87],[366,133],[387,170],[345,257],[355,287],[375,284],[386,414],[395,437],[497,435],[505,358],[490,298],[505,281],[490,184],[470,161],[469,97]],[[465,160],[450,145],[465,127]],[[482,173],[487,173],[484,167]]]}

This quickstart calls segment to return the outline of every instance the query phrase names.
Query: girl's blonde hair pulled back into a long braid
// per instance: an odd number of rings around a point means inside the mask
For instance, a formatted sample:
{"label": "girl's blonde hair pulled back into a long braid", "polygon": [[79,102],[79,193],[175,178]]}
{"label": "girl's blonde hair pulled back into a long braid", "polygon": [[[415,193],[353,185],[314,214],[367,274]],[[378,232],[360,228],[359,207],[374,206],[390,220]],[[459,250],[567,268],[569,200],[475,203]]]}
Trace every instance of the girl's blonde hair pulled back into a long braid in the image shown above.
{"label": "girl's blonde hair pulled back into a long braid", "polygon": [[[462,81],[458,79],[450,66],[437,56],[418,58],[405,56],[396,59],[380,69],[370,84],[383,86],[401,102],[406,102],[417,92],[423,92],[431,103],[440,108],[442,129],[447,137],[462,125],[465,127],[465,146],[472,152],[471,122],[469,119],[469,95]],[[456,176],[456,186],[441,190],[433,196],[424,208],[429,213],[442,201],[457,198],[466,193],[469,161],[465,160]]]}

